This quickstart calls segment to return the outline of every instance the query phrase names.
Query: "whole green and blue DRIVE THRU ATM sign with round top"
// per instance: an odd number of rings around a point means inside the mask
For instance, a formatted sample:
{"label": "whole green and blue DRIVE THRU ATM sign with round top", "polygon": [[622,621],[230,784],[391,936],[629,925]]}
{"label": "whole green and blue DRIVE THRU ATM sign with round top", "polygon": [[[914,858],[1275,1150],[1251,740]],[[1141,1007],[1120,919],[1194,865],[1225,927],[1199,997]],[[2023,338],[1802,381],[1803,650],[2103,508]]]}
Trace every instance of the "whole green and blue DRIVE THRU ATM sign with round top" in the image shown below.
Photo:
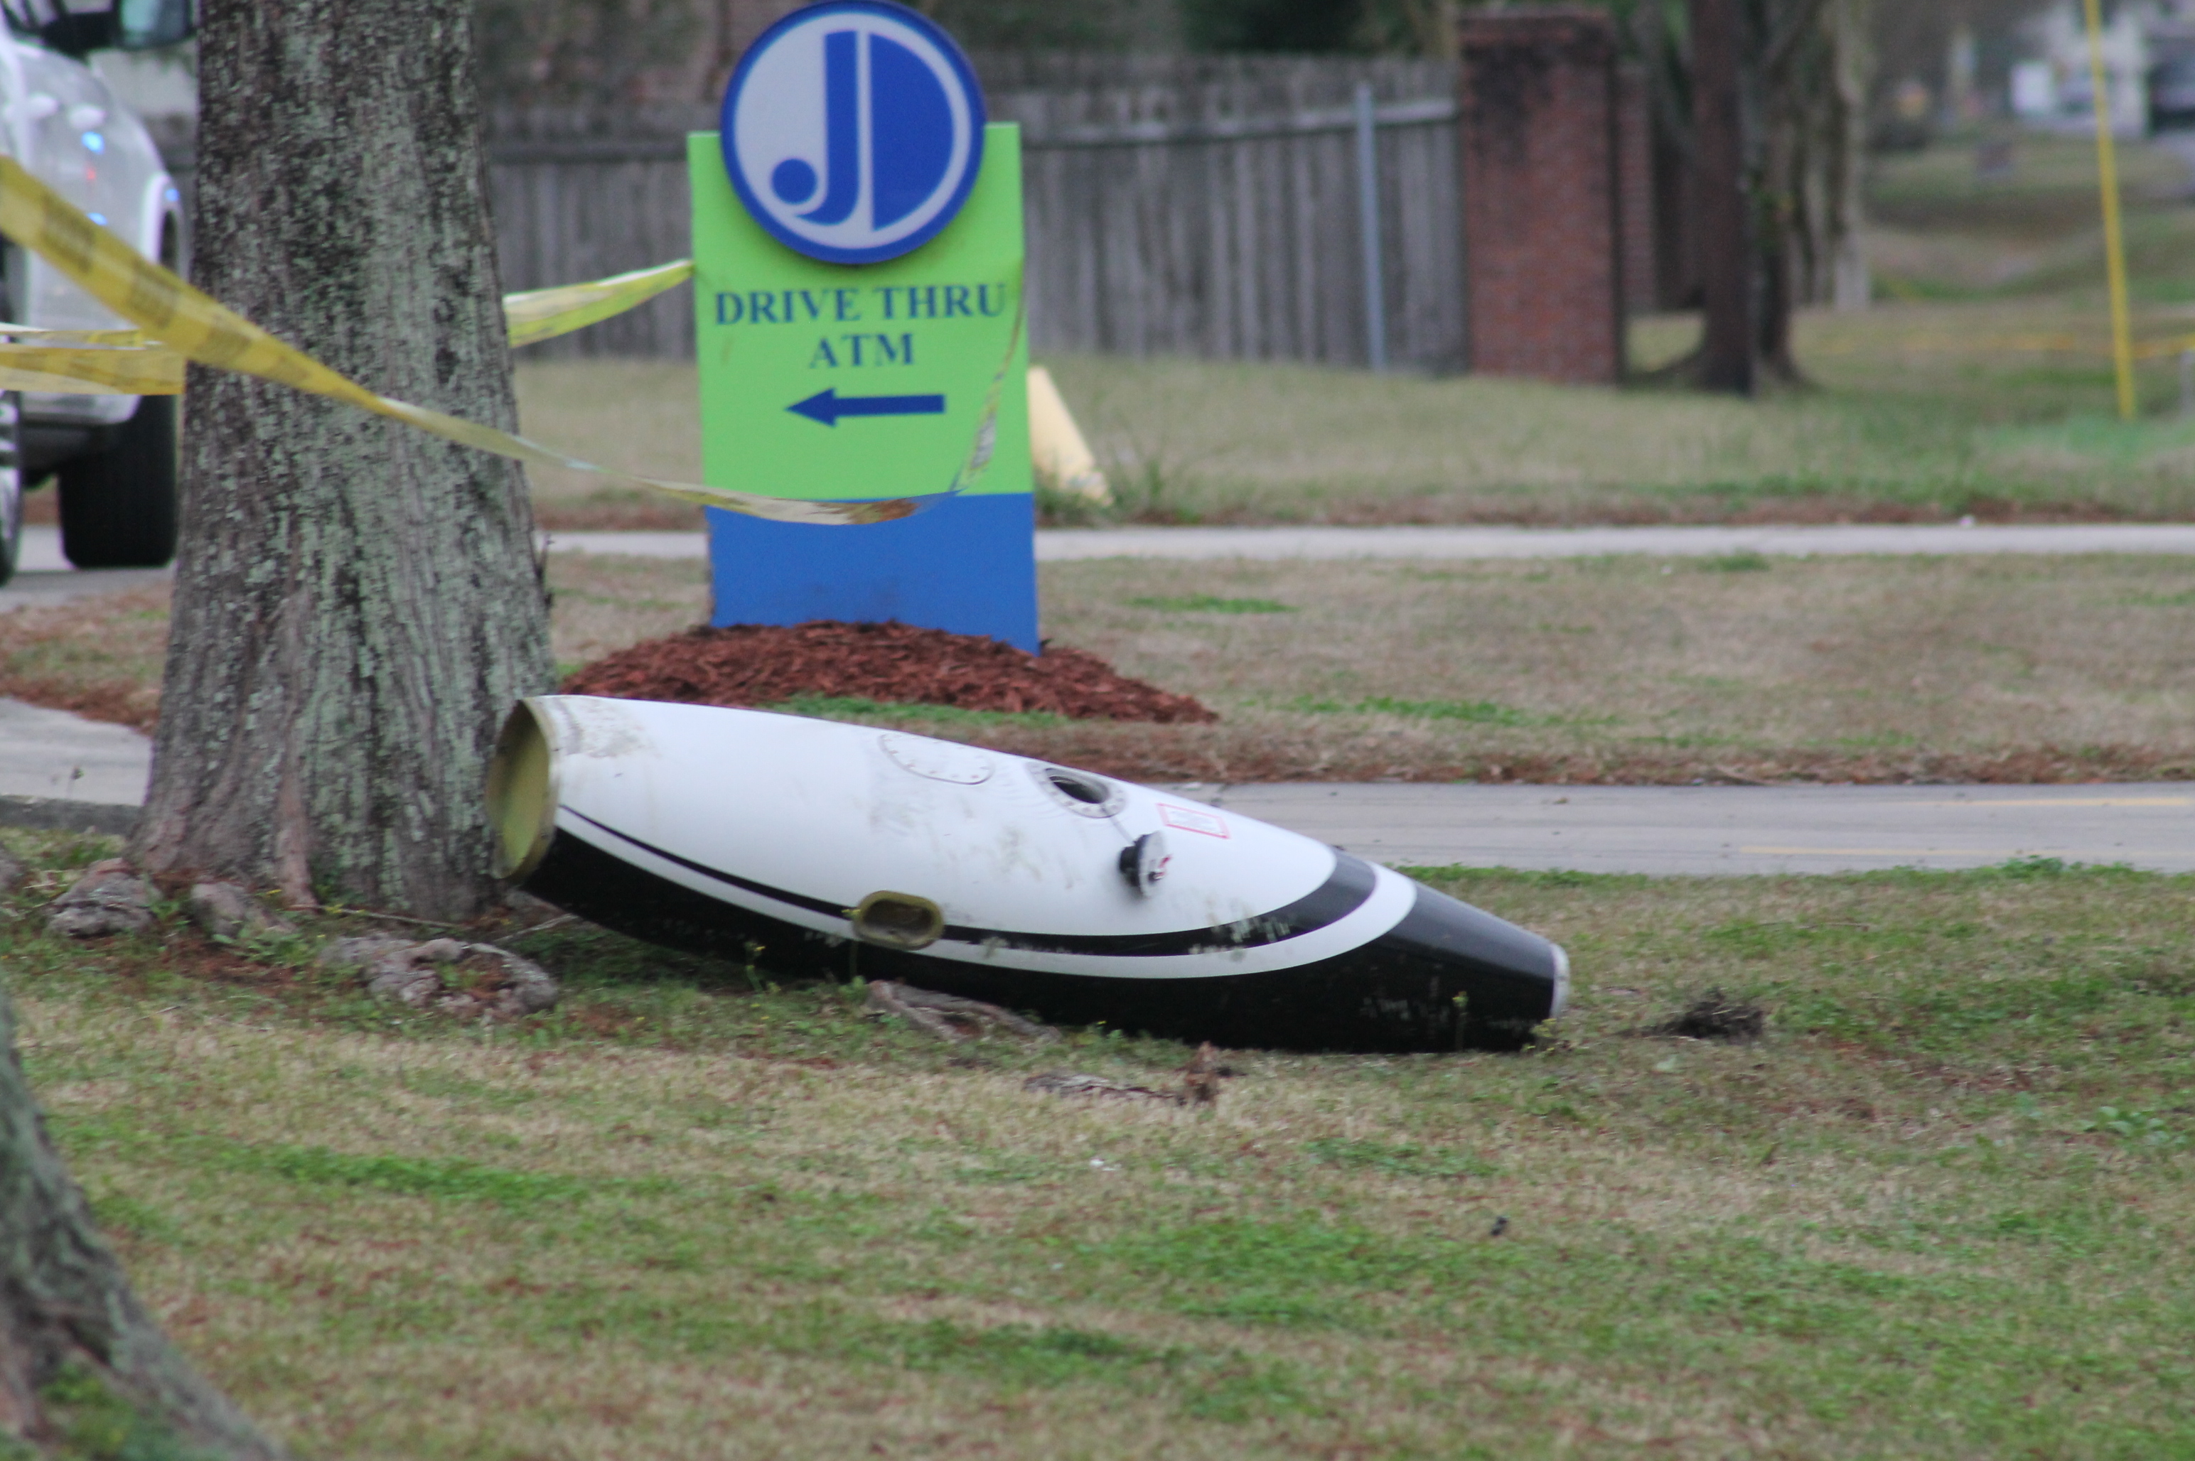
{"label": "whole green and blue DRIVE THRU ATM sign with round top", "polygon": [[748,48],[687,145],[702,472],[918,498],[876,526],[709,511],[713,623],[852,619],[1036,649],[1021,138],[953,39],[825,0]]}

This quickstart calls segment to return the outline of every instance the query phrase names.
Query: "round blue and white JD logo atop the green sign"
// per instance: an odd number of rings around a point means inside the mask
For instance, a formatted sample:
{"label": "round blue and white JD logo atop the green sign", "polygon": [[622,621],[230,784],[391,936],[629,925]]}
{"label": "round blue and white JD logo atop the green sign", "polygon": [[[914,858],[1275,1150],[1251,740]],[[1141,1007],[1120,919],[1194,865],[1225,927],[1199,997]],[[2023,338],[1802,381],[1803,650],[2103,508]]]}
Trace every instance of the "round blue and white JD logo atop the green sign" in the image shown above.
{"label": "round blue and white JD logo atop the green sign", "polygon": [[724,90],[724,169],[770,235],[825,263],[922,248],[968,202],[983,94],[953,37],[887,0],[762,33]]}

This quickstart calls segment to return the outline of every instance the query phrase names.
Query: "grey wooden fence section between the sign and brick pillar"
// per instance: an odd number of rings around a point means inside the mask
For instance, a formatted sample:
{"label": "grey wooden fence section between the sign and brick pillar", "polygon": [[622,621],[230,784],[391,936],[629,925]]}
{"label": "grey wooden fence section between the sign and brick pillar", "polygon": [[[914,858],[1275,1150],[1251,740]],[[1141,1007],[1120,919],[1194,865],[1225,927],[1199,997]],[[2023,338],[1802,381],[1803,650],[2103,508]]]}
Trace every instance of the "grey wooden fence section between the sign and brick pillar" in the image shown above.
{"label": "grey wooden fence section between the sign and brick pillar", "polygon": [[1038,351],[1367,364],[1383,316],[1389,360],[1462,364],[1453,68],[1029,57],[983,81],[1023,129]]}

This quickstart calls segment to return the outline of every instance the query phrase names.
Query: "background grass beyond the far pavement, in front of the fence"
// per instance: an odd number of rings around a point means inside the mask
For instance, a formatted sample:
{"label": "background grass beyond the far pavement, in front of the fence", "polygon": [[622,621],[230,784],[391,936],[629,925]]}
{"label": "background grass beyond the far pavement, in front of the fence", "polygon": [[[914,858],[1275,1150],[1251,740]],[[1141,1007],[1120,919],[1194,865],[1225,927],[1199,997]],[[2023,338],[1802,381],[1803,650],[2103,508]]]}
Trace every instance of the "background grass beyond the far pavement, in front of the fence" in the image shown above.
{"label": "background grass beyond the far pavement, in front of the fence", "polygon": [[[1826,522],[2191,518],[2195,423],[2173,415],[2169,344],[2195,331],[2186,165],[2125,154],[2145,419],[2112,419],[2094,151],[2030,138],[2008,180],[1973,151],[1877,165],[1870,246],[1883,301],[1806,312],[1813,386],[1734,401],[1655,384],[1203,360],[1054,358],[1119,496],[1146,522]],[[1633,325],[1640,366],[1697,338]],[[694,371],[522,364],[527,430],[593,461],[691,478]],[[685,526],[694,509],[536,472],[551,526]],[[1062,520],[1084,520],[1058,505]]]}

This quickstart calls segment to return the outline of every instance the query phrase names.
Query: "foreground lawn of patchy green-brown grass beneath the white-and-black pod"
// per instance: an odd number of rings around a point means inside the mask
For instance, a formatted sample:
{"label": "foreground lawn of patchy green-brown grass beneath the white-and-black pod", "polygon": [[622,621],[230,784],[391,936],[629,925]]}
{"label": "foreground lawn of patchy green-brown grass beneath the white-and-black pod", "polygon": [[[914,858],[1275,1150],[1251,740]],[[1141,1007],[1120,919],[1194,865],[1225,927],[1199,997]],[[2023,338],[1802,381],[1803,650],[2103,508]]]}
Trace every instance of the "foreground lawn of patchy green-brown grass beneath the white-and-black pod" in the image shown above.
{"label": "foreground lawn of patchy green-brown grass beneath the white-and-black pod", "polygon": [[[2195,1450],[2195,886],[1429,877],[1572,950],[1523,1055],[942,1049],[575,926],[520,1029],[178,924],[0,959],[50,1130],[303,1457]],[[1760,1044],[1648,1038],[1719,985]],[[1506,1218],[1504,1233],[1493,1235]]]}

